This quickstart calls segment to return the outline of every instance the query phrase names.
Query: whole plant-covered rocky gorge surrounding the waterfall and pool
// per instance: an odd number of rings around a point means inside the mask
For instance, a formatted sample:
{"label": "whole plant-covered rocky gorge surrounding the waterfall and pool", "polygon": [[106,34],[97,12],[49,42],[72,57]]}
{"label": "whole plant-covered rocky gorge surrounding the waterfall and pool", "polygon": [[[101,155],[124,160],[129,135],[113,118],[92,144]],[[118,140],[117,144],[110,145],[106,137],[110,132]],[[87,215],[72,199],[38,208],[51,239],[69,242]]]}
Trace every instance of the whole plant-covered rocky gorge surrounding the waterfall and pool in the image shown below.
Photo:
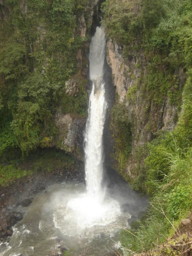
{"label": "whole plant-covered rocky gorge surrounding the waterfall and pool", "polygon": [[[3,242],[36,194],[54,183],[84,182],[88,55],[100,24],[106,31],[104,162],[151,198],[147,214],[131,227],[134,238],[120,234],[124,254],[147,252],[167,236],[176,248],[190,242],[190,223],[185,230],[181,220],[191,220],[192,202],[191,7],[189,0],[0,1]],[[163,250],[174,255],[169,246]],[[190,255],[191,248],[177,253]]]}

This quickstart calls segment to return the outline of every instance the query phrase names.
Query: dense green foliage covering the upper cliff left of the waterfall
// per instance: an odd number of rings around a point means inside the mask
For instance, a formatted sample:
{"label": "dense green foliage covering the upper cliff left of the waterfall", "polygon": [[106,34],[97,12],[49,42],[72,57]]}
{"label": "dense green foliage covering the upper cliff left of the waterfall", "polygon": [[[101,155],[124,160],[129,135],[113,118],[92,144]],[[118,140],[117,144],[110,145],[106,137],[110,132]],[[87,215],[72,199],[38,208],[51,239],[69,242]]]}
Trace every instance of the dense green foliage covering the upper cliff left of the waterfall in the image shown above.
{"label": "dense green foliage covering the upper cliff left of the waterfall", "polygon": [[[59,106],[73,116],[86,114],[86,81],[76,55],[87,38],[77,20],[87,1],[5,0],[0,4],[0,156],[13,148],[23,155],[45,137],[54,138]],[[66,95],[74,74],[78,93]]]}

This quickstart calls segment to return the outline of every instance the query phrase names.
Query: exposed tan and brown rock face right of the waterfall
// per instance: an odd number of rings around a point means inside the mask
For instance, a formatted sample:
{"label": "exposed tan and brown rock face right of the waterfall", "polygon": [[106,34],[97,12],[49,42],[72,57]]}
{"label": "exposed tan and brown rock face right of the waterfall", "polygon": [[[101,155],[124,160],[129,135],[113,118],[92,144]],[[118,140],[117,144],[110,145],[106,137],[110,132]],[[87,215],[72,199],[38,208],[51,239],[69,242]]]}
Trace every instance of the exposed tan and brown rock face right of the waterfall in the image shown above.
{"label": "exposed tan and brown rock face right of the waterfall", "polygon": [[[147,71],[147,60],[144,54],[130,52],[125,60],[122,46],[108,40],[107,61],[111,67],[113,84],[118,94],[116,103],[125,103],[128,122],[132,125],[132,152],[124,172],[129,180],[133,180],[137,176],[138,166],[136,149],[151,141],[159,130],[173,130],[176,126],[175,116],[178,110],[170,104],[168,96],[165,97],[161,106],[156,106],[153,99],[148,99],[143,93],[145,85],[142,80]],[[179,78],[179,86],[182,88],[186,80],[184,72],[175,70],[175,76]],[[112,133],[112,138],[115,138],[116,131]],[[114,159],[111,158],[109,162],[114,167]]]}

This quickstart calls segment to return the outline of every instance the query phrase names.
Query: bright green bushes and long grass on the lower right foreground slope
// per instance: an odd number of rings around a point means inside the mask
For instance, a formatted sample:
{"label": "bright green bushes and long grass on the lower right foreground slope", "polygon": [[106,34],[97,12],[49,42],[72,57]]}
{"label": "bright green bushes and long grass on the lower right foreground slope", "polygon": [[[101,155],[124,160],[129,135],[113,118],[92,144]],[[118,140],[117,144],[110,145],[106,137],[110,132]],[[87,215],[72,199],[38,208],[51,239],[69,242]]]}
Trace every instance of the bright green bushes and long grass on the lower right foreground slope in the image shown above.
{"label": "bright green bushes and long grass on the lower right foreground slope", "polygon": [[131,233],[121,233],[122,245],[134,252],[166,242],[192,208],[192,147],[182,150],[171,133],[148,147],[145,188],[151,195],[150,207]]}

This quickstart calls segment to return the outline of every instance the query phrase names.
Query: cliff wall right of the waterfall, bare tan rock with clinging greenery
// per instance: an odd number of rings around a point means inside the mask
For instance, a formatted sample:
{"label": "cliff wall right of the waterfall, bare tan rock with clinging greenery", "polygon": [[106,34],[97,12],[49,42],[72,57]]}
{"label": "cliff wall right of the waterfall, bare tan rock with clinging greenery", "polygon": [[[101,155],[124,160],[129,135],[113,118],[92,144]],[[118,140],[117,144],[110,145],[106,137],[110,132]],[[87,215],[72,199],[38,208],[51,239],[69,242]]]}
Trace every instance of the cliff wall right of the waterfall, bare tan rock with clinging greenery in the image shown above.
{"label": "cliff wall right of the waterfall, bare tan rock with clinging greenery", "polygon": [[147,143],[174,130],[186,82],[183,65],[169,63],[167,50],[161,52],[151,44],[143,9],[141,1],[132,0],[103,5],[107,61],[116,86],[108,157],[110,166],[130,181],[142,172]]}

